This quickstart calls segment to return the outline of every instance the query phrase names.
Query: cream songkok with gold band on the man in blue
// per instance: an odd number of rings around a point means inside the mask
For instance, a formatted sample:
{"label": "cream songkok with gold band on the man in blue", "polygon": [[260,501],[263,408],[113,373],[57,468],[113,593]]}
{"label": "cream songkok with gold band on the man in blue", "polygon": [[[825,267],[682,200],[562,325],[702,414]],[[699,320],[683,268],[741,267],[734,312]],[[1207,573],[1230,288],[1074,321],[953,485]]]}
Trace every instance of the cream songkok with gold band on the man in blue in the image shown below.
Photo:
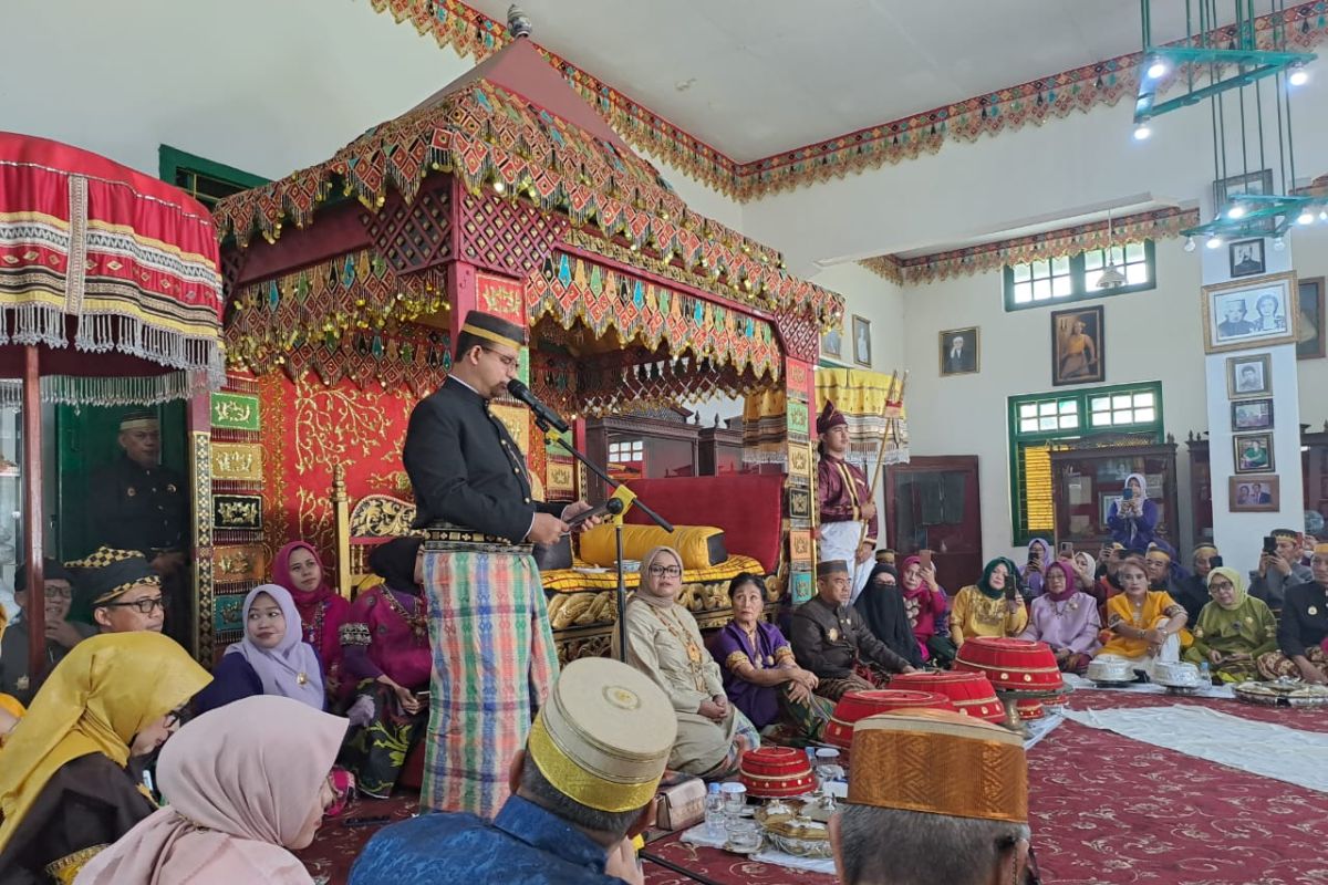
{"label": "cream songkok with gold band on the man in blue", "polygon": [[673,706],[645,675],[610,658],[578,658],[531,723],[526,755],[568,799],[623,812],[655,796],[676,736]]}

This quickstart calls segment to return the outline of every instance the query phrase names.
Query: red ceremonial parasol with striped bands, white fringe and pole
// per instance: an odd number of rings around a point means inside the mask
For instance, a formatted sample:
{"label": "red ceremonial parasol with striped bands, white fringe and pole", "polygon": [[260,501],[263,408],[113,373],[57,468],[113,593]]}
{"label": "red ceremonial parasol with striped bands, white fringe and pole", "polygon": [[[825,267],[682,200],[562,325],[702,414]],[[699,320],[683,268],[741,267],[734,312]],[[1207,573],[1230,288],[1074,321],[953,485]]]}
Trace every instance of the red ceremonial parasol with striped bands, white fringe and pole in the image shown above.
{"label": "red ceremonial parasol with striped bands, white fringe and pole", "polygon": [[0,133],[0,378],[23,379],[35,677],[45,657],[41,402],[147,405],[216,389],[220,313],[201,203],[97,154]]}

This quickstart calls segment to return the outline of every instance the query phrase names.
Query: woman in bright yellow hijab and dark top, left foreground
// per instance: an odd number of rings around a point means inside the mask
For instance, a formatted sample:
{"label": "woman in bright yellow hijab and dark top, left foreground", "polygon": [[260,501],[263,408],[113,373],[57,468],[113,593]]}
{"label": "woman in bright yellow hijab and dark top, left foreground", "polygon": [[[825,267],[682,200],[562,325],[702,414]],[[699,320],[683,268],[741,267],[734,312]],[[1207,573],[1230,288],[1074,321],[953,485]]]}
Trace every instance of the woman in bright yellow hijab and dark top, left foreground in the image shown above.
{"label": "woman in bright yellow hijab and dark top, left foreground", "polygon": [[141,766],[211,677],[161,633],[84,640],[0,750],[0,882],[69,882],[155,811]]}

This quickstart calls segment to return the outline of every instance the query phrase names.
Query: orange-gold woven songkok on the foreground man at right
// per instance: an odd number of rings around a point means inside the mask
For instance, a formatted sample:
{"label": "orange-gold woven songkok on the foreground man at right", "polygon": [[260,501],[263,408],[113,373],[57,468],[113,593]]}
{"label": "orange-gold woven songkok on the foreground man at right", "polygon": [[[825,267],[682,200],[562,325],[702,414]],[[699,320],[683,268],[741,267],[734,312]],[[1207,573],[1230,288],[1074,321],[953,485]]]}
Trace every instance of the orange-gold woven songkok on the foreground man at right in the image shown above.
{"label": "orange-gold woven songkok on the foreground man at right", "polygon": [[1028,823],[1024,742],[989,722],[948,710],[892,710],[858,720],[850,758],[855,805]]}

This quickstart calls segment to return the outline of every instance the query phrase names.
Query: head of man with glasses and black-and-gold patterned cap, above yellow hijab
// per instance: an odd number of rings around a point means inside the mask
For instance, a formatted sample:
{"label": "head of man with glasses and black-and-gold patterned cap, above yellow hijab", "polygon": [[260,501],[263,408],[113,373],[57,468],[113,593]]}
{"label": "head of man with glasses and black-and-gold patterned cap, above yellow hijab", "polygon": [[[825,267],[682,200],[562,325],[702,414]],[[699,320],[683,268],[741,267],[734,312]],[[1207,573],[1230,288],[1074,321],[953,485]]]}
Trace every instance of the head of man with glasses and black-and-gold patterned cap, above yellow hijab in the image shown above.
{"label": "head of man with glasses and black-and-gold patterned cap, above yellow hijab", "polygon": [[169,604],[161,576],[142,553],[102,547],[65,565],[92,600],[92,618],[102,633],[162,632]]}

